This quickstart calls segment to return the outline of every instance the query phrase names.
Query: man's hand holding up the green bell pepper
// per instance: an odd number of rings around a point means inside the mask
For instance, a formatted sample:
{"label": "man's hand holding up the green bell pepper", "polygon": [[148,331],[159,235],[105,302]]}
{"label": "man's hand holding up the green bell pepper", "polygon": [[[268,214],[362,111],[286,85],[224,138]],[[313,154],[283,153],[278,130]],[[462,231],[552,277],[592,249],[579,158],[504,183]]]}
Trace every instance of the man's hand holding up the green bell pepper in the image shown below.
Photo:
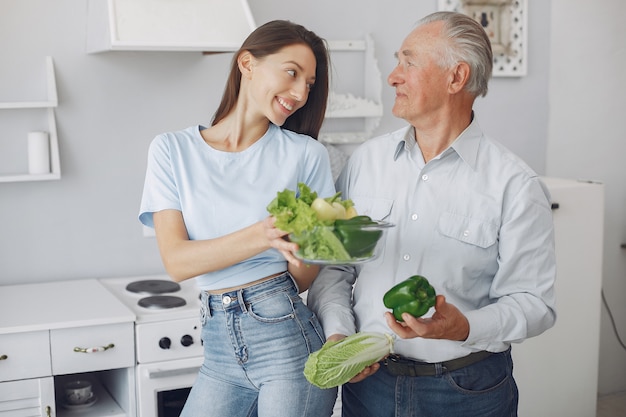
{"label": "man's hand holding up the green bell pepper", "polygon": [[463,313],[446,302],[443,295],[435,301],[435,314],[429,318],[415,318],[402,314],[404,323],[396,321],[393,314],[385,313],[387,325],[403,339],[423,337],[426,339],[465,340],[469,336],[469,322]]}

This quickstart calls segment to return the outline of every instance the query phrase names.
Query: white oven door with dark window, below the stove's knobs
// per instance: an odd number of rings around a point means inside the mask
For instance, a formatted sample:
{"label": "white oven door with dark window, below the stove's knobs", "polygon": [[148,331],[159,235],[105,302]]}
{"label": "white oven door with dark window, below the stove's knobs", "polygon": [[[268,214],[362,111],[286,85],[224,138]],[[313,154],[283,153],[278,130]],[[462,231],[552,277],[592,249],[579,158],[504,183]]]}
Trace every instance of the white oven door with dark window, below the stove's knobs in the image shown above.
{"label": "white oven door with dark window, below the stove's knobs", "polygon": [[178,417],[202,357],[137,365],[138,417]]}

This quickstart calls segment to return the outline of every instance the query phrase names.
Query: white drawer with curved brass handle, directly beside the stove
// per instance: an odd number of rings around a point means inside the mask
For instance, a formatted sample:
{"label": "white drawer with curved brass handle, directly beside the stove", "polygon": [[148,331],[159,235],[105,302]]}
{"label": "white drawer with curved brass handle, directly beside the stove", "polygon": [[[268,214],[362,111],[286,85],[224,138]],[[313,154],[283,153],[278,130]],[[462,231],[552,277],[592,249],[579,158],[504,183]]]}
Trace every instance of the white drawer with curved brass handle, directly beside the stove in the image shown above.
{"label": "white drawer with curved brass handle, directly beside the stove", "polygon": [[51,330],[50,344],[54,375],[135,365],[132,322]]}

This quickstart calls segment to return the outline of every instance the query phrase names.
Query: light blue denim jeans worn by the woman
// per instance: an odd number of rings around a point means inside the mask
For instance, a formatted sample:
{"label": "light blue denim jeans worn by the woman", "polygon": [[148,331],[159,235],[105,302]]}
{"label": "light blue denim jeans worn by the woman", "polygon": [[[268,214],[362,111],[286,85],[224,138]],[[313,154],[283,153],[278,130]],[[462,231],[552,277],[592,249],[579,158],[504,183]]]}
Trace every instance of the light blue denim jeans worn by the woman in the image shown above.
{"label": "light blue denim jeans worn by the woman", "polygon": [[303,375],[324,334],[288,273],[201,297],[204,363],[182,417],[332,414],[337,391],[319,389]]}

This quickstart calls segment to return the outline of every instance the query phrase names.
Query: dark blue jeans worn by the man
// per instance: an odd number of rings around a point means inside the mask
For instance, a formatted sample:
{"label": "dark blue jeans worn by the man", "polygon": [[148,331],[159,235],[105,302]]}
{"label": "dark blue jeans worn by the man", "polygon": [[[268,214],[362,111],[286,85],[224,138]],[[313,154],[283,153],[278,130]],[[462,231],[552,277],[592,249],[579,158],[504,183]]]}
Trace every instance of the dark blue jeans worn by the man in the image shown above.
{"label": "dark blue jeans worn by the man", "polygon": [[510,349],[435,376],[393,376],[381,366],[343,385],[342,417],[515,417],[518,392]]}

